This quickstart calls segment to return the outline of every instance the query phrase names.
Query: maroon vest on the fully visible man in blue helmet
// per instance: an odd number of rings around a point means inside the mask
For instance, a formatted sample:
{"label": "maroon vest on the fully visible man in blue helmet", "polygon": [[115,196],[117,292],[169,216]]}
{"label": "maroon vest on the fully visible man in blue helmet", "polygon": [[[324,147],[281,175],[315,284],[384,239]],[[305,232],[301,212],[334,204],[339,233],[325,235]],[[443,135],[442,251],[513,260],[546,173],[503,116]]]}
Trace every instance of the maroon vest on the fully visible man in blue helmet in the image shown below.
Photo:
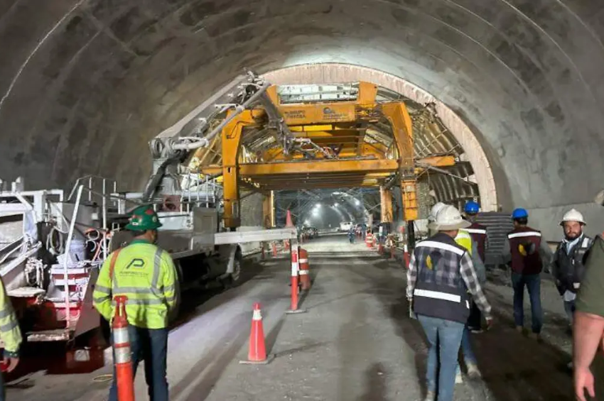
{"label": "maroon vest on the fully visible man in blue helmet", "polygon": [[512,271],[523,275],[541,273],[543,268],[539,255],[541,231],[530,227],[519,227],[507,234],[507,239],[509,251],[512,253]]}

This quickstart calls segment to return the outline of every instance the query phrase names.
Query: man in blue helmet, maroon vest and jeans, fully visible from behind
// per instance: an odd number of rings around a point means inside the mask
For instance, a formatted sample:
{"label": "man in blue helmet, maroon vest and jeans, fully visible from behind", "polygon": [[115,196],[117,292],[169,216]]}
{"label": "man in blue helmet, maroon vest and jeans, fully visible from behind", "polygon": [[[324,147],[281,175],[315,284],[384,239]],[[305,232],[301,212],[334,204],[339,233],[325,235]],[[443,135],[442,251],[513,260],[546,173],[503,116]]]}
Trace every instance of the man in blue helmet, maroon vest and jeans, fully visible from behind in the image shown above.
{"label": "man in blue helmet, maroon vest and jeans, fully visible from behind", "polygon": [[520,333],[524,333],[524,287],[529,291],[532,316],[532,334],[541,341],[543,311],[541,310],[541,270],[549,265],[551,251],[545,241],[541,241],[541,231],[532,229],[529,213],[525,209],[512,212],[514,229],[505,238],[502,259],[512,266],[512,288],[514,290],[514,323]]}

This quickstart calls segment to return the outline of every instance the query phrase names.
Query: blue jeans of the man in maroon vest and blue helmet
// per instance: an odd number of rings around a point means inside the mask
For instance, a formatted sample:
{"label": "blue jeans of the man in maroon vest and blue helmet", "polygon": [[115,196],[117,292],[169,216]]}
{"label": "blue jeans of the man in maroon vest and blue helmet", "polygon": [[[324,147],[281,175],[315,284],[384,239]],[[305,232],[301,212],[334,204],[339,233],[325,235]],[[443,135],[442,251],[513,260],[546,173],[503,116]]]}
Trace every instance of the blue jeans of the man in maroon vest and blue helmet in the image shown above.
{"label": "blue jeans of the man in maroon vest and blue helmet", "polygon": [[531,300],[531,317],[533,333],[541,333],[543,326],[543,311],[541,310],[541,277],[538,274],[522,275],[512,272],[512,287],[514,288],[514,322],[516,326],[524,326],[524,286],[529,290]]}

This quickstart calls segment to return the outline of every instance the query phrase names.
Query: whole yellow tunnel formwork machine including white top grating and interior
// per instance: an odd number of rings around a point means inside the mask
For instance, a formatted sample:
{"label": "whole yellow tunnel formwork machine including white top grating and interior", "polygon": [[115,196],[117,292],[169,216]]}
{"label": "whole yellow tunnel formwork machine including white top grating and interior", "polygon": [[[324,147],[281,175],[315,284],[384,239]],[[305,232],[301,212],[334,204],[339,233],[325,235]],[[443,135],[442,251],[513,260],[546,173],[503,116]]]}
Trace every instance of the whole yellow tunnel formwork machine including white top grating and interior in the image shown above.
{"label": "whole yellow tunnel formwork machine including white top grating and interior", "polygon": [[454,158],[416,160],[404,102],[377,101],[376,85],[331,87],[271,86],[266,93],[285,132],[257,106],[235,116],[210,147],[196,150],[193,171],[222,175],[225,227],[239,226],[241,187],[264,194],[265,226],[274,225],[273,191],[280,189],[379,187],[382,222],[389,223],[391,188],[399,185],[404,220],[417,219],[416,166],[453,165]]}

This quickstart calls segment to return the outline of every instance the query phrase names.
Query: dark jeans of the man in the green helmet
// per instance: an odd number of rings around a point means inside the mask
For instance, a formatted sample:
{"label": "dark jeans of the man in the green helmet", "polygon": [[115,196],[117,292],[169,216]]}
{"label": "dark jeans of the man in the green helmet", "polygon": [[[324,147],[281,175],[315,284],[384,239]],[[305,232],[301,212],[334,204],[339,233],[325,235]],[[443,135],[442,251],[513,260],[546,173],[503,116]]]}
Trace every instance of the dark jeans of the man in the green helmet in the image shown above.
{"label": "dark jeans of the man in the green helmet", "polygon": [[[128,326],[132,368],[136,376],[139,362],[145,362],[145,381],[149,388],[149,400],[168,401],[166,359],[168,356],[168,329],[141,329]],[[115,378],[115,370],[114,370]],[[115,380],[109,390],[109,401],[117,401]]]}

